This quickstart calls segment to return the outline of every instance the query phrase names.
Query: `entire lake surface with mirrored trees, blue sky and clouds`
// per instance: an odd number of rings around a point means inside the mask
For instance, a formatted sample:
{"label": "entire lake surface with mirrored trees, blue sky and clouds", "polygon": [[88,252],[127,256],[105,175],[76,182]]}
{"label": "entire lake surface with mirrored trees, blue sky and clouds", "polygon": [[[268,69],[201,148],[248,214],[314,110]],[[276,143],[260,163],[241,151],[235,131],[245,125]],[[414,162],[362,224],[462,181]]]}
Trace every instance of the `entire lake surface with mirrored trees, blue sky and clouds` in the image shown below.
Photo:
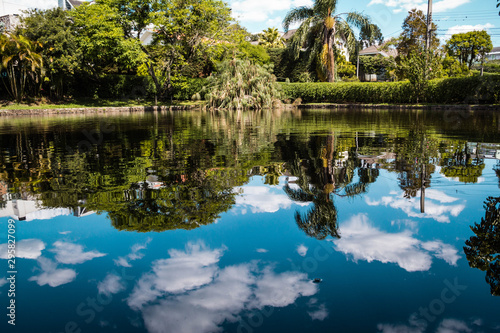
{"label": "entire lake surface with mirrored trees, blue sky and clouds", "polygon": [[499,134],[480,111],[0,118],[1,331],[499,331]]}

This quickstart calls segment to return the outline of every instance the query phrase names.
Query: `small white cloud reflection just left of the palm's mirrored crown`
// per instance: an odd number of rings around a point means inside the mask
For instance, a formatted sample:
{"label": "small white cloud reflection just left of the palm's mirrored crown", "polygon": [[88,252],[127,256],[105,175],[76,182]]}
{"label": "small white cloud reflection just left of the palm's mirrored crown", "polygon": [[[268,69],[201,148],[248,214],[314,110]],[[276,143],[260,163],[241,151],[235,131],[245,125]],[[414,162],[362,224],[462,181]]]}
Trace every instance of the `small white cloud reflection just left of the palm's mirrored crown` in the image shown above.
{"label": "small white cloud reflection just left of the palm's mirrored crown", "polygon": [[281,192],[281,189],[268,186],[244,186],[235,188],[235,191],[242,193],[236,197],[235,206],[242,210],[249,208],[252,213],[275,213],[280,209],[289,209],[292,204],[300,206],[309,204],[294,202]]}

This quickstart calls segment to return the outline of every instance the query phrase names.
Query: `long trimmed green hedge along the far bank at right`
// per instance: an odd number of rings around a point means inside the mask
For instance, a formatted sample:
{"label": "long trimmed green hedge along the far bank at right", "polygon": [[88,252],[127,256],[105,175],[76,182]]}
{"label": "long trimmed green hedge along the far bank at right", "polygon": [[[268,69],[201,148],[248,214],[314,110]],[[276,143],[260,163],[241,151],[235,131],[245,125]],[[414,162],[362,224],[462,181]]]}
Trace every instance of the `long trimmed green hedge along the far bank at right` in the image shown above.
{"label": "long trimmed green hedge along the far bank at right", "polygon": [[[410,82],[280,83],[285,98],[305,103],[415,103]],[[432,80],[422,102],[481,104],[500,102],[500,75]]]}

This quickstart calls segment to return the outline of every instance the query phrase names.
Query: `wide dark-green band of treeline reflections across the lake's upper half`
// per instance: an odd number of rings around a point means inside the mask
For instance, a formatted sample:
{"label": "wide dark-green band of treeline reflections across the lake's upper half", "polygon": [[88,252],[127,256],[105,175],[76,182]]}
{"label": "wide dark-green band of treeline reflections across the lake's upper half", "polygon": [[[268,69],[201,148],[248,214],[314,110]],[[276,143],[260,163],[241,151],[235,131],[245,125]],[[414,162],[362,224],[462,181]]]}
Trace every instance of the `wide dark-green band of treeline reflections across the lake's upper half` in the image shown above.
{"label": "wide dark-green band of treeline reflections across the lake's upper half", "polygon": [[[2,129],[0,181],[46,207],[108,212],[117,228],[147,231],[211,223],[234,204],[235,186],[252,175],[278,185],[287,173],[298,177],[284,187],[287,195],[312,208],[296,214],[297,224],[311,236],[336,237],[335,196],[368,191],[380,169],[398,173],[407,198],[425,193],[437,165],[464,182],[481,175],[480,148],[466,140],[471,130],[465,138],[444,139],[438,125],[424,126],[414,116],[360,117],[351,110],[43,119]],[[493,132],[488,119],[483,125]],[[103,140],[79,149],[85,132]]]}

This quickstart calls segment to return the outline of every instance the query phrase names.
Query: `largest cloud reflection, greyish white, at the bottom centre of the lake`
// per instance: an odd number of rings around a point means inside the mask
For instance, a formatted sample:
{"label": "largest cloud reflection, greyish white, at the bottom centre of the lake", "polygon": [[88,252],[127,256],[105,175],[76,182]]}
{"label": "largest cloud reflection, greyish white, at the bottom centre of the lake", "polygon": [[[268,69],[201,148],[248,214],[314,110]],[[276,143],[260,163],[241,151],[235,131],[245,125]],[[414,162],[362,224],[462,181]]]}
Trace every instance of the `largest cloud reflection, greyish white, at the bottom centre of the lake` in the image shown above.
{"label": "largest cloud reflection, greyish white, at the bottom centre of the lake", "polygon": [[[166,328],[181,333],[219,332],[223,322],[236,322],[242,312],[262,310],[268,305],[288,306],[298,297],[318,290],[306,274],[277,274],[270,266],[259,269],[257,262],[220,268],[224,250],[189,243],[185,251],[170,250],[171,258],[158,260],[152,272],[139,279],[127,302],[142,312],[148,332],[165,332]],[[200,272],[202,267],[206,272]],[[161,281],[172,281],[163,280],[167,275],[173,278],[174,286],[178,285],[180,281],[172,276],[177,269],[191,282],[182,288],[160,286]],[[166,275],[167,271],[170,273]],[[200,280],[200,274],[206,278]],[[193,281],[197,281],[196,287]],[[144,294],[147,296],[139,298]]]}

